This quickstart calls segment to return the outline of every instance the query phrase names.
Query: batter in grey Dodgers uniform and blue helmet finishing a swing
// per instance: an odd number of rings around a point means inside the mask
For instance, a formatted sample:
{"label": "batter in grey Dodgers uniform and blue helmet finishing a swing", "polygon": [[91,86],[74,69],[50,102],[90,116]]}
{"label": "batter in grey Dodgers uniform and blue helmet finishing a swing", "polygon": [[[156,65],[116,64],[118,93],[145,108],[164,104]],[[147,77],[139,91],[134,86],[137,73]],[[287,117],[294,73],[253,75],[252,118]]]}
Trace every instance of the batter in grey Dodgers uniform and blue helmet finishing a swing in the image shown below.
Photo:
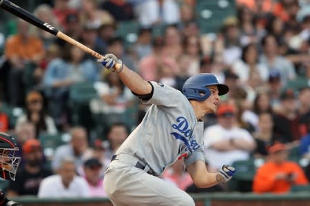
{"label": "batter in grey Dodgers uniform and blue helmet finishing a swing", "polygon": [[158,178],[166,167],[183,160],[197,187],[225,183],[234,167],[223,165],[217,173],[205,166],[203,116],[216,112],[220,95],[229,90],[213,74],[192,76],[178,90],[148,82],[130,70],[114,54],[98,60],[117,72],[143,103],[152,104],[143,121],[112,156],[104,185],[113,205],[195,205],[186,192]]}

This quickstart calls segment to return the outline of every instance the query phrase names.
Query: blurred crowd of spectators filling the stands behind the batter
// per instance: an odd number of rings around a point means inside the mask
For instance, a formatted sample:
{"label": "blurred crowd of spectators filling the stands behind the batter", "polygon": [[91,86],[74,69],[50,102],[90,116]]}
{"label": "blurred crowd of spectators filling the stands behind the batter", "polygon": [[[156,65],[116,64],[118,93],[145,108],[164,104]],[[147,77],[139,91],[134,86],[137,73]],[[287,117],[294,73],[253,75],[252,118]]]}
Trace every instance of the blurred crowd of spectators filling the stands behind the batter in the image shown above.
{"label": "blurred crowd of spectators filling the stands behind the batter", "polygon": [[[205,117],[205,153],[209,171],[229,164],[236,176],[198,189],[177,161],[165,181],[190,193],[309,189],[310,1],[12,2],[148,81],[180,90],[211,72],[229,85]],[[0,131],[17,138],[23,158],[17,181],[1,188],[8,197],[105,196],[103,172],[147,106],[94,56],[0,17]]]}

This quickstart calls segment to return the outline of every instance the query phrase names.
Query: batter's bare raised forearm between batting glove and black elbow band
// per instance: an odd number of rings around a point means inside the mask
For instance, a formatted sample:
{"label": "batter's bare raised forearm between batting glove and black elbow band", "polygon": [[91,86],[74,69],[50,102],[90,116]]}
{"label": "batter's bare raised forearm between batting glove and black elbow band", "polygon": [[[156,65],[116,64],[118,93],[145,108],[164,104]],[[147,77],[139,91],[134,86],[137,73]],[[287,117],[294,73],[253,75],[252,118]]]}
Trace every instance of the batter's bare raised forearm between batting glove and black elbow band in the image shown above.
{"label": "batter's bare raised forearm between batting glove and black elbow band", "polygon": [[152,86],[149,85],[139,74],[123,65],[123,70],[118,72],[118,76],[123,83],[136,94],[149,94],[152,92]]}

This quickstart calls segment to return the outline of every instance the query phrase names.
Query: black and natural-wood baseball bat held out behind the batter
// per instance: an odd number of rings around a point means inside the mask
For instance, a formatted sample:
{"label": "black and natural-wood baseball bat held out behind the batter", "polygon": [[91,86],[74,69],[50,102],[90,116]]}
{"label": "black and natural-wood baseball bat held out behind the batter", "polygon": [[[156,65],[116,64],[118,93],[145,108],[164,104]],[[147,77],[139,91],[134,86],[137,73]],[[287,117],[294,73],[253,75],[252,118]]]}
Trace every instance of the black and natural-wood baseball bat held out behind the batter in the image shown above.
{"label": "black and natural-wood baseball bat held out behind the batter", "polygon": [[[41,21],[37,17],[35,17],[33,14],[30,12],[24,10],[23,8],[20,8],[19,6],[15,5],[14,3],[8,1],[8,0],[1,0],[0,1],[0,7],[3,8],[4,10],[7,10],[11,14],[14,14],[15,16],[27,21],[28,23],[31,23],[32,25],[37,26],[38,28],[41,28],[45,30],[46,32],[49,32],[56,37],[63,39],[64,41],[71,43],[72,45],[75,45],[76,47],[80,48],[81,50],[92,54],[92,56],[95,56],[98,59],[101,59],[103,56],[91,48],[88,48],[87,46],[83,45],[82,43],[79,43],[79,41],[76,41],[69,37],[68,35],[64,34],[63,32],[56,30],[52,25],[49,23],[46,23],[44,21]],[[116,65],[119,67],[120,65]]]}

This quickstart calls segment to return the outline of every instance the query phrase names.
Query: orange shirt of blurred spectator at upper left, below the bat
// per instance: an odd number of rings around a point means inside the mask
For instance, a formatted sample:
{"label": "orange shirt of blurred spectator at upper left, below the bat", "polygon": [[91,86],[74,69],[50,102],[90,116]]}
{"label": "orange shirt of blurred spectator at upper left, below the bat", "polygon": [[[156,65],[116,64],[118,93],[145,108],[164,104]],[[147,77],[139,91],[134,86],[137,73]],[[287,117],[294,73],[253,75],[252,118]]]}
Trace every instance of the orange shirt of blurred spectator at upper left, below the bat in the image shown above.
{"label": "orange shirt of blurred spectator at upper left, below the bat", "polygon": [[23,60],[32,60],[40,54],[44,54],[43,42],[37,37],[28,37],[28,41],[23,42],[21,36],[16,34],[6,42],[5,55],[8,59],[17,55]]}

